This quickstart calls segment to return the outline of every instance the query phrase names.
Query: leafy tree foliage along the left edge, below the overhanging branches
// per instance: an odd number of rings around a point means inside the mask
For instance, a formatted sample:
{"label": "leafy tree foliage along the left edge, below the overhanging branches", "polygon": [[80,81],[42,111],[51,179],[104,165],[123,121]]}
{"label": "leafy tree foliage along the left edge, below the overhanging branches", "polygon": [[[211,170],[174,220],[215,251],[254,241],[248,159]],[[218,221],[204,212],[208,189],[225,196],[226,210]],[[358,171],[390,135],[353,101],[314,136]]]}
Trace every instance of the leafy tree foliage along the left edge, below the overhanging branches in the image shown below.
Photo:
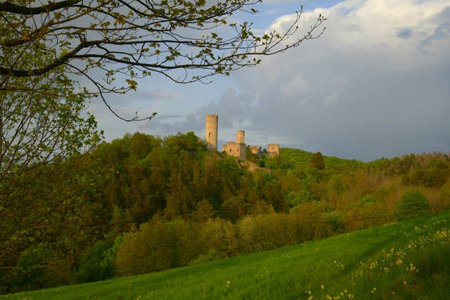
{"label": "leafy tree foliage along the left edge, below the overhanging branches", "polygon": [[[40,57],[27,61],[41,63]],[[14,86],[0,89],[0,287],[15,270],[26,268],[17,263],[30,247],[45,243],[51,248],[51,254],[41,255],[41,267],[50,260],[67,261],[65,254],[56,255],[70,244],[61,235],[80,223],[87,226],[86,212],[95,210],[81,196],[97,193],[102,176],[91,176],[96,166],[88,167],[89,156],[81,154],[95,147],[102,133],[94,117],[82,117],[89,94],[76,91],[63,71],[0,78]],[[80,234],[78,242],[85,238]]]}

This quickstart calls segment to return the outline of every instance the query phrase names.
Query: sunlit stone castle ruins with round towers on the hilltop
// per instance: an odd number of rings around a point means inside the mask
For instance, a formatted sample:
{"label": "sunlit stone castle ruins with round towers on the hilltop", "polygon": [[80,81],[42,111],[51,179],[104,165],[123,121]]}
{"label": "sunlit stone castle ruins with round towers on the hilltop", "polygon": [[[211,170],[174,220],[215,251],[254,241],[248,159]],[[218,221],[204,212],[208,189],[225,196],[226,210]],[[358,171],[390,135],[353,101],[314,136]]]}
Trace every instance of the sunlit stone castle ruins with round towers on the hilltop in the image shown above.
{"label": "sunlit stone castle ruins with round towers on the hilltop", "polygon": [[[205,131],[205,139],[208,143],[208,149],[217,151],[217,128],[219,116],[216,115],[206,115],[206,131]],[[235,142],[227,142],[226,145],[222,146],[222,151],[225,151],[228,155],[233,155],[238,157],[241,160],[246,160],[247,155],[245,155],[246,150],[245,145],[245,131],[238,130],[236,133],[236,143]],[[269,144],[267,145],[267,152],[262,152],[261,147],[258,146],[248,146],[252,153],[255,153],[259,158],[262,155],[273,156],[280,154],[280,145],[278,144]]]}

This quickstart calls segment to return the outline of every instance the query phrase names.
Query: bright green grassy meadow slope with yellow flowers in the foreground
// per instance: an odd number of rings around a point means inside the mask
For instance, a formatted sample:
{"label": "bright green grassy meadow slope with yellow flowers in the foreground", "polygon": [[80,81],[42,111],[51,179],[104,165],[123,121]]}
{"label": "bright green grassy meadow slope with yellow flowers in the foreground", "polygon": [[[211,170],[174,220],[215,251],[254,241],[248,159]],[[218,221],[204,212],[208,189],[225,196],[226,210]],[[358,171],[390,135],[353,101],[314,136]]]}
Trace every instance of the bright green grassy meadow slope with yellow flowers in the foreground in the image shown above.
{"label": "bright green grassy meadow slope with yellow flowers in the foreground", "polygon": [[[345,299],[450,299],[449,228],[445,211],[202,265],[0,299],[333,299],[341,292]],[[436,232],[447,235],[432,247],[414,243]],[[391,249],[393,257],[382,262]],[[419,272],[406,270],[410,263]]]}

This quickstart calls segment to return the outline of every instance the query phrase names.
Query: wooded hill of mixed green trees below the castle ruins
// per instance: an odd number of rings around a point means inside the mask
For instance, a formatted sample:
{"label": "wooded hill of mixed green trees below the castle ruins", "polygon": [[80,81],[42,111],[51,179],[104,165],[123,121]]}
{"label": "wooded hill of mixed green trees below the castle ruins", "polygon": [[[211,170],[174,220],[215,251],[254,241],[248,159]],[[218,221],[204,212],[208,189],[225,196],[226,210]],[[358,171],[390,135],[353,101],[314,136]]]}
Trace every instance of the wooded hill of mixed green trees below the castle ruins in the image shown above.
{"label": "wooded hill of mixed green trees below the castle ruins", "polygon": [[[53,187],[64,212],[45,234],[28,220],[34,240],[3,261],[3,292],[187,266],[450,207],[446,153],[370,163],[288,148],[248,157],[270,172],[207,150],[193,132],[134,133],[60,162],[72,164]],[[411,201],[423,209],[407,211]]]}

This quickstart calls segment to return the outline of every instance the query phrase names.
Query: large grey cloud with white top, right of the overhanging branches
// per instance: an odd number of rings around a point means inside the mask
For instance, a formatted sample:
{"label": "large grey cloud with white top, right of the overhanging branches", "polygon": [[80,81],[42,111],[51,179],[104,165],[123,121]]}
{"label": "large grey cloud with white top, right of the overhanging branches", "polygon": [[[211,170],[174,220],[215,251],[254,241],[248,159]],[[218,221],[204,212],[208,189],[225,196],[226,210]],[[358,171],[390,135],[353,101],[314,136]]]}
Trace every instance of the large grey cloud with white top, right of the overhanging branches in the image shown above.
{"label": "large grey cloud with white top, right of the overhanging branches", "polygon": [[[235,73],[239,92],[198,109],[198,130],[205,113],[217,113],[219,131],[243,129],[263,146],[270,136],[366,161],[448,151],[449,5],[367,0],[307,11],[297,37],[319,13],[328,19],[325,34]],[[266,31],[282,32],[294,18],[278,18]]]}

